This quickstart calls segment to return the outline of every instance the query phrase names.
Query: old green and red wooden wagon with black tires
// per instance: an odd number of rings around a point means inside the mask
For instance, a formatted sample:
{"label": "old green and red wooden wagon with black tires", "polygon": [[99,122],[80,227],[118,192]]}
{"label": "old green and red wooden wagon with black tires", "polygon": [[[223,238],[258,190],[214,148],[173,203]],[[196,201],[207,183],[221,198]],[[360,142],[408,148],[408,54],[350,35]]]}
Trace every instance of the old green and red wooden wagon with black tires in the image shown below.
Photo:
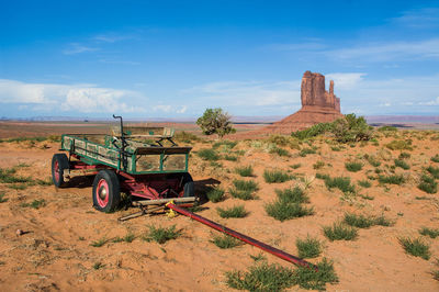
{"label": "old green and red wooden wagon with black tires", "polygon": [[65,153],[52,159],[54,184],[64,188],[74,177],[95,175],[93,206],[106,213],[117,207],[121,192],[132,201],[195,201],[188,172],[192,147],[178,146],[171,128],[130,127],[123,125],[122,116],[113,117],[120,120],[120,126],[111,135],[61,136],[60,150]]}

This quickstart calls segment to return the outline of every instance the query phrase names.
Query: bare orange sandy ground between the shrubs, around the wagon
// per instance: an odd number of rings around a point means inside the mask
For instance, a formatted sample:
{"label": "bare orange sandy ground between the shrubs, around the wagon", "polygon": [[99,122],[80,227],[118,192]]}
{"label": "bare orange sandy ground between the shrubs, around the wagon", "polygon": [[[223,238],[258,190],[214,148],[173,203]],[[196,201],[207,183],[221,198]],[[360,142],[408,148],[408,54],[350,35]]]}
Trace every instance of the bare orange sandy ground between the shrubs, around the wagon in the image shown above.
{"label": "bare orange sandy ground between the shrubs, around the wagon", "polygon": [[[358,187],[365,200],[357,195],[346,198],[338,190],[329,191],[324,182],[315,179],[316,172],[330,176],[348,176],[353,182],[364,180],[367,175],[375,176],[374,167],[365,160],[359,172],[349,172],[345,162],[363,154],[376,155],[384,171],[393,165],[399,150],[389,150],[385,144],[395,137],[380,137],[379,145],[368,143],[346,145],[345,149],[334,151],[325,139],[314,142],[317,154],[299,156],[299,150],[290,149],[291,157],[280,157],[267,151],[263,141],[241,141],[233,150],[243,150],[238,161],[219,160],[211,165],[191,157],[190,171],[195,181],[215,179],[225,190],[238,175],[237,166],[251,165],[255,169],[252,180],[259,183],[259,200],[241,201],[230,198],[219,203],[207,202],[198,214],[224,224],[230,228],[296,255],[295,240],[307,235],[324,244],[323,257],[334,260],[339,283],[328,284],[329,291],[438,291],[439,282],[431,271],[439,258],[439,238],[423,236],[430,245],[431,258],[424,260],[405,254],[398,237],[419,237],[423,226],[439,227],[439,194],[427,194],[416,188],[423,168],[439,164],[430,157],[439,154],[438,132],[402,132],[396,139],[412,138],[414,150],[407,161],[409,170],[396,168],[407,182],[402,186],[379,186],[371,181],[372,188]],[[302,145],[304,147],[306,145]],[[18,175],[33,179],[47,180],[50,177],[50,159],[58,153],[57,143],[0,143],[0,168],[19,166]],[[196,143],[194,151],[210,148],[212,143]],[[219,148],[221,149],[221,148]],[[225,151],[229,151],[224,149]],[[407,151],[407,150],[406,150]],[[314,169],[316,161],[324,161],[322,169]],[[291,166],[301,164],[297,169]],[[266,169],[282,169],[294,173],[302,180],[283,183],[267,183],[262,173]],[[248,180],[248,178],[245,178]],[[302,218],[277,221],[267,215],[264,204],[275,199],[274,189],[304,187],[309,182],[306,193],[309,206],[315,214]],[[117,217],[135,212],[135,209],[104,214],[95,211],[91,202],[91,182],[55,189],[53,186],[30,186],[23,190],[10,183],[0,183],[0,193],[7,202],[0,203],[0,288],[2,291],[229,291],[225,283],[225,272],[246,270],[255,263],[250,256],[262,254],[256,247],[243,245],[232,249],[219,249],[212,237],[217,233],[184,216],[169,218],[166,215],[144,216],[117,222]],[[416,198],[423,198],[418,200]],[[24,206],[34,200],[45,200],[40,209]],[[24,203],[24,204],[23,204]],[[249,215],[245,218],[221,218],[216,207],[244,204]],[[345,212],[361,214],[384,214],[394,220],[390,227],[373,226],[360,229],[359,237],[352,242],[329,242],[323,234],[323,226],[341,220]],[[176,225],[182,236],[164,245],[142,239],[148,226],[169,227]],[[18,236],[16,229],[27,232]],[[133,233],[132,243],[109,242],[102,247],[91,244],[102,238],[124,237]],[[269,263],[284,267],[294,266],[264,254]],[[97,263],[101,268],[95,269]],[[292,291],[301,290],[293,287]]]}

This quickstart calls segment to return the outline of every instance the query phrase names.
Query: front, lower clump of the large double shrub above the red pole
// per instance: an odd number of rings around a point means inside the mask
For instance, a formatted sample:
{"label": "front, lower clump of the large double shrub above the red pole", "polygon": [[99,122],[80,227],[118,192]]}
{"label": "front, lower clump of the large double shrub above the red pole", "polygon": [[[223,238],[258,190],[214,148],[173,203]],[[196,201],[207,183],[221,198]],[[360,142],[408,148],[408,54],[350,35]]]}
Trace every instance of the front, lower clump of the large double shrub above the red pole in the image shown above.
{"label": "front, lower clump of the large double shrub above the red pole", "polygon": [[264,207],[268,215],[281,222],[314,214],[312,207],[303,206],[300,203],[283,202],[279,199],[266,204]]}

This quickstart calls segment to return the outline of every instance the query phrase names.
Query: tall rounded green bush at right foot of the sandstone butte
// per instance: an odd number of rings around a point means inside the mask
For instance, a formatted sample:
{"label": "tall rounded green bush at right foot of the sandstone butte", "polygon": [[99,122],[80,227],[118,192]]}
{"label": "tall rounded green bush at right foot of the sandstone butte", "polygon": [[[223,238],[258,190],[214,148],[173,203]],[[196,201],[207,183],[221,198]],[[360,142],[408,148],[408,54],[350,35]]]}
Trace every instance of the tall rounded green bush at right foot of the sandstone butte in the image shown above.
{"label": "tall rounded green bush at right foot of the sandstone butte", "polygon": [[339,143],[369,141],[372,138],[373,127],[368,125],[363,116],[347,114],[333,122],[331,133]]}

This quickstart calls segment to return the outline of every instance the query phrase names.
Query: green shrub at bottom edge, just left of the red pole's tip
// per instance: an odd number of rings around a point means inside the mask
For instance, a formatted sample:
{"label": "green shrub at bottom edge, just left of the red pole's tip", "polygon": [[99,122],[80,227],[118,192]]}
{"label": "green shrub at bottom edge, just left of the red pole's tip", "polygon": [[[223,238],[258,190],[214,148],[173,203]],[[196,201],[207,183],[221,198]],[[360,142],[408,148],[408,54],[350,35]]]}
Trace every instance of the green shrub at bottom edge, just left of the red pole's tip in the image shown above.
{"label": "green shrub at bottom edge, just left of the red pole's tip", "polygon": [[250,267],[248,271],[228,271],[225,273],[229,288],[248,291],[283,291],[295,283],[291,269],[280,265],[261,265]]}

